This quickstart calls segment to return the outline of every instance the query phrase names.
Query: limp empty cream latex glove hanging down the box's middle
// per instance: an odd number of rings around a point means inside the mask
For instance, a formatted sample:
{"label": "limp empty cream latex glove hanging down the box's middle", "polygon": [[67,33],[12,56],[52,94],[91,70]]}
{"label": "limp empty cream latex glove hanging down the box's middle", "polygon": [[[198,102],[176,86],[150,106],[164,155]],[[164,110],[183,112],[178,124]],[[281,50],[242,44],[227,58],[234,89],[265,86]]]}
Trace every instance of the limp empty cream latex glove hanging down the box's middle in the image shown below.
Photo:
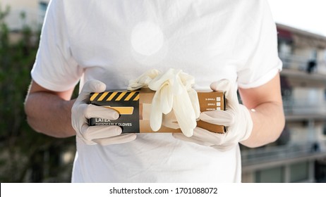
{"label": "limp empty cream latex glove hanging down the box's middle", "polygon": [[[193,129],[197,125],[196,119],[200,115],[197,92],[192,89],[194,83],[193,77],[174,69],[169,69],[149,82],[148,87],[156,91],[150,112],[150,127],[153,131],[161,128],[162,120],[174,122],[174,119],[168,120],[168,114],[173,110],[183,134],[193,135]],[[171,124],[165,126],[169,125]]]}

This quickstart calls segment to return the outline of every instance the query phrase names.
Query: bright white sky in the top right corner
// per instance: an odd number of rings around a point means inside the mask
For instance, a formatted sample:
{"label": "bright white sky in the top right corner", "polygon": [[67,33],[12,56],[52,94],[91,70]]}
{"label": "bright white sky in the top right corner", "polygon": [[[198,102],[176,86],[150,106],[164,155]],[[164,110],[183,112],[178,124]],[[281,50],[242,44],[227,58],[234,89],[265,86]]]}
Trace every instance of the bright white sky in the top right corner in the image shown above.
{"label": "bright white sky in the top right corner", "polygon": [[267,0],[274,21],[326,37],[325,0]]}

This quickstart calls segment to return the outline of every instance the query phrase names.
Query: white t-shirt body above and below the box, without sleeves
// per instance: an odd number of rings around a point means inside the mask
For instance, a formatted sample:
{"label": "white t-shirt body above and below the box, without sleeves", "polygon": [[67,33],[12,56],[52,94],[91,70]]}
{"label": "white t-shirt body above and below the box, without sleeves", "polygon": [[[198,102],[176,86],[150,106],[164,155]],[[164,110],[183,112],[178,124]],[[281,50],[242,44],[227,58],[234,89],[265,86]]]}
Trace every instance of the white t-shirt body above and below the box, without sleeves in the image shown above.
{"label": "white t-shirt body above and below the box, without sleeves", "polygon": [[[234,15],[243,14],[241,1],[66,2],[73,10],[66,13],[71,53],[85,69],[81,84],[96,79],[107,89],[125,89],[146,70],[179,68],[195,77],[195,88],[209,89],[222,78],[235,82],[246,63],[239,46],[246,41],[236,37],[244,27]],[[239,146],[220,152],[171,134],[138,134],[135,141],[111,146],[77,144],[73,182],[241,179]]]}

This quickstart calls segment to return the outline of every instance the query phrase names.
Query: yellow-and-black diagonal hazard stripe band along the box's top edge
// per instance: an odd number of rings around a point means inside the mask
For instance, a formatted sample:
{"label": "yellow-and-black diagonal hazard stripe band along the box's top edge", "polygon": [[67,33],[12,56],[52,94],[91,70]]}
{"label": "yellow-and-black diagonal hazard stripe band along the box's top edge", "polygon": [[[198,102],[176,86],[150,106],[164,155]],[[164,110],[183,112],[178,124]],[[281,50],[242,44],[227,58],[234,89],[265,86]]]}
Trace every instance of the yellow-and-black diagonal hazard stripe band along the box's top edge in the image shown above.
{"label": "yellow-and-black diagonal hazard stripe band along the box's top edge", "polygon": [[90,101],[138,101],[139,91],[105,91],[90,94]]}

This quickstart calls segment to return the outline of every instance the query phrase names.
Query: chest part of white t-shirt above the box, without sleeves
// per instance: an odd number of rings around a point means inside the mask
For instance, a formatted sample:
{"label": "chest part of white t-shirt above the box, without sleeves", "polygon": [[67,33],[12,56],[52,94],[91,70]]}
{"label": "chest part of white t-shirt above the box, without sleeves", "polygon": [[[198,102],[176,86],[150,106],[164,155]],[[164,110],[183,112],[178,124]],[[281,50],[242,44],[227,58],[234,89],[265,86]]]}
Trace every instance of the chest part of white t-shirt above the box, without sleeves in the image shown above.
{"label": "chest part of white t-shirt above the box, without sleeves", "polygon": [[67,3],[74,10],[66,16],[71,51],[85,80],[121,89],[146,70],[179,68],[198,88],[221,78],[236,81],[250,42],[239,37],[245,27],[234,13],[246,11],[241,1],[123,2]]}

